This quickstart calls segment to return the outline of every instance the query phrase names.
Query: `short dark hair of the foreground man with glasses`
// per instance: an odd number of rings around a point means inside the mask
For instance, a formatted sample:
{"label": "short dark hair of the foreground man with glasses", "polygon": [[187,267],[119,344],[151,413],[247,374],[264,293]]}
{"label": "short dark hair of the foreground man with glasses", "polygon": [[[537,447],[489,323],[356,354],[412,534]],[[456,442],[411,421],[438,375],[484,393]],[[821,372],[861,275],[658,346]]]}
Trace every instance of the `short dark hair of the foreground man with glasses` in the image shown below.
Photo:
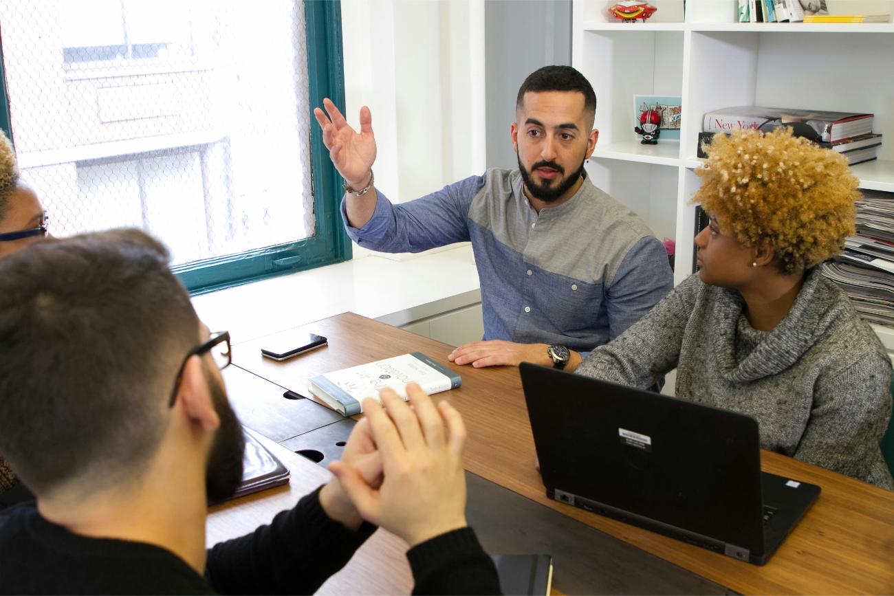
{"label": "short dark hair of the foreground man with glasses", "polygon": [[139,230],[47,239],[0,259],[0,453],[38,496],[139,474],[198,317]]}

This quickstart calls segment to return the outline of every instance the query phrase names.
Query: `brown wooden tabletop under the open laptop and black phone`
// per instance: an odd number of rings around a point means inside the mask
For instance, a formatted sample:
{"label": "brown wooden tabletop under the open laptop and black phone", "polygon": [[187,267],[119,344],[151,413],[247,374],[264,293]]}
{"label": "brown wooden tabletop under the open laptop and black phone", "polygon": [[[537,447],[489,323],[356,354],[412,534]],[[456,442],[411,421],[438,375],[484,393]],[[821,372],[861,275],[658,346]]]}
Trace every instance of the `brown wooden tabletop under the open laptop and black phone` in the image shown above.
{"label": "brown wooden tabletop under the open laptop and black phone", "polygon": [[[450,399],[468,427],[469,472],[604,533],[742,593],[894,592],[894,493],[789,457],[763,452],[763,469],[822,486],[822,495],[770,562],[757,567],[548,499],[534,468],[535,449],[518,369],[452,365],[451,347],[353,314],[310,323],[277,337],[315,332],[329,346],[276,363],[257,340],[233,348],[233,362],[283,388],[308,395],[307,379],[350,365],[421,351],[462,376]],[[561,399],[561,396],[557,396]],[[300,401],[300,400],[299,400]],[[561,568],[555,579],[559,582]],[[561,590],[561,584],[556,583]]]}

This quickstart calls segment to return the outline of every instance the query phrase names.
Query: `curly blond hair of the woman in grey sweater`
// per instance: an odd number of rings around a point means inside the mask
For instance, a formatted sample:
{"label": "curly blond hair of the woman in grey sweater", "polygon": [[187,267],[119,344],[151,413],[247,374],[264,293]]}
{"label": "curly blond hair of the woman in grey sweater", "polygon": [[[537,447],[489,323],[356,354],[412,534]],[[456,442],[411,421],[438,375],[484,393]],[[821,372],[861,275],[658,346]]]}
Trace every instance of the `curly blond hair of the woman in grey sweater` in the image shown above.
{"label": "curly blond hair of the woman in grey sweater", "polygon": [[788,127],[718,134],[705,151],[692,201],[745,246],[772,247],[782,273],[839,254],[854,233],[858,180],[839,153],[792,137]]}

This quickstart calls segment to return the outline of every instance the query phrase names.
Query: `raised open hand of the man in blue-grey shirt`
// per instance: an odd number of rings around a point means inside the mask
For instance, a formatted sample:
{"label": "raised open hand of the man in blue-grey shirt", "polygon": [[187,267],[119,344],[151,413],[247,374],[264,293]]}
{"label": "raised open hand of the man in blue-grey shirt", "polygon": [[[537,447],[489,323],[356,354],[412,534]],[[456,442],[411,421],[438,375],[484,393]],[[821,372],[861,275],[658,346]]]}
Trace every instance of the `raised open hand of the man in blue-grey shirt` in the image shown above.
{"label": "raised open hand of the man in blue-grey shirt", "polygon": [[329,98],[323,100],[323,107],[328,116],[318,107],[314,108],[314,115],[323,130],[323,144],[329,149],[329,158],[350,188],[362,189],[369,183],[369,172],[375,162],[373,115],[366,105],[360,108],[358,133],[350,128]]}

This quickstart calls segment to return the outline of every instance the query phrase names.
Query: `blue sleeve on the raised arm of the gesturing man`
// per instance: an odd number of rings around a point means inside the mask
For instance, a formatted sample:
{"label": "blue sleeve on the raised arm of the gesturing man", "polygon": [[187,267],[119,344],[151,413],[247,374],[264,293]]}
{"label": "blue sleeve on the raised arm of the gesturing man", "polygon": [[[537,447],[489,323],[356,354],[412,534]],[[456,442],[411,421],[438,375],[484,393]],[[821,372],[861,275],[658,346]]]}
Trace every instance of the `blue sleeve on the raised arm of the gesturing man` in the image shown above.
{"label": "blue sleeve on the raised arm of the gesturing man", "polygon": [[386,253],[417,253],[465,242],[469,239],[468,207],[484,184],[484,176],[472,176],[398,205],[375,189],[375,212],[366,225],[350,226],[347,197],[342,198],[342,220],[350,239],[363,248]]}

